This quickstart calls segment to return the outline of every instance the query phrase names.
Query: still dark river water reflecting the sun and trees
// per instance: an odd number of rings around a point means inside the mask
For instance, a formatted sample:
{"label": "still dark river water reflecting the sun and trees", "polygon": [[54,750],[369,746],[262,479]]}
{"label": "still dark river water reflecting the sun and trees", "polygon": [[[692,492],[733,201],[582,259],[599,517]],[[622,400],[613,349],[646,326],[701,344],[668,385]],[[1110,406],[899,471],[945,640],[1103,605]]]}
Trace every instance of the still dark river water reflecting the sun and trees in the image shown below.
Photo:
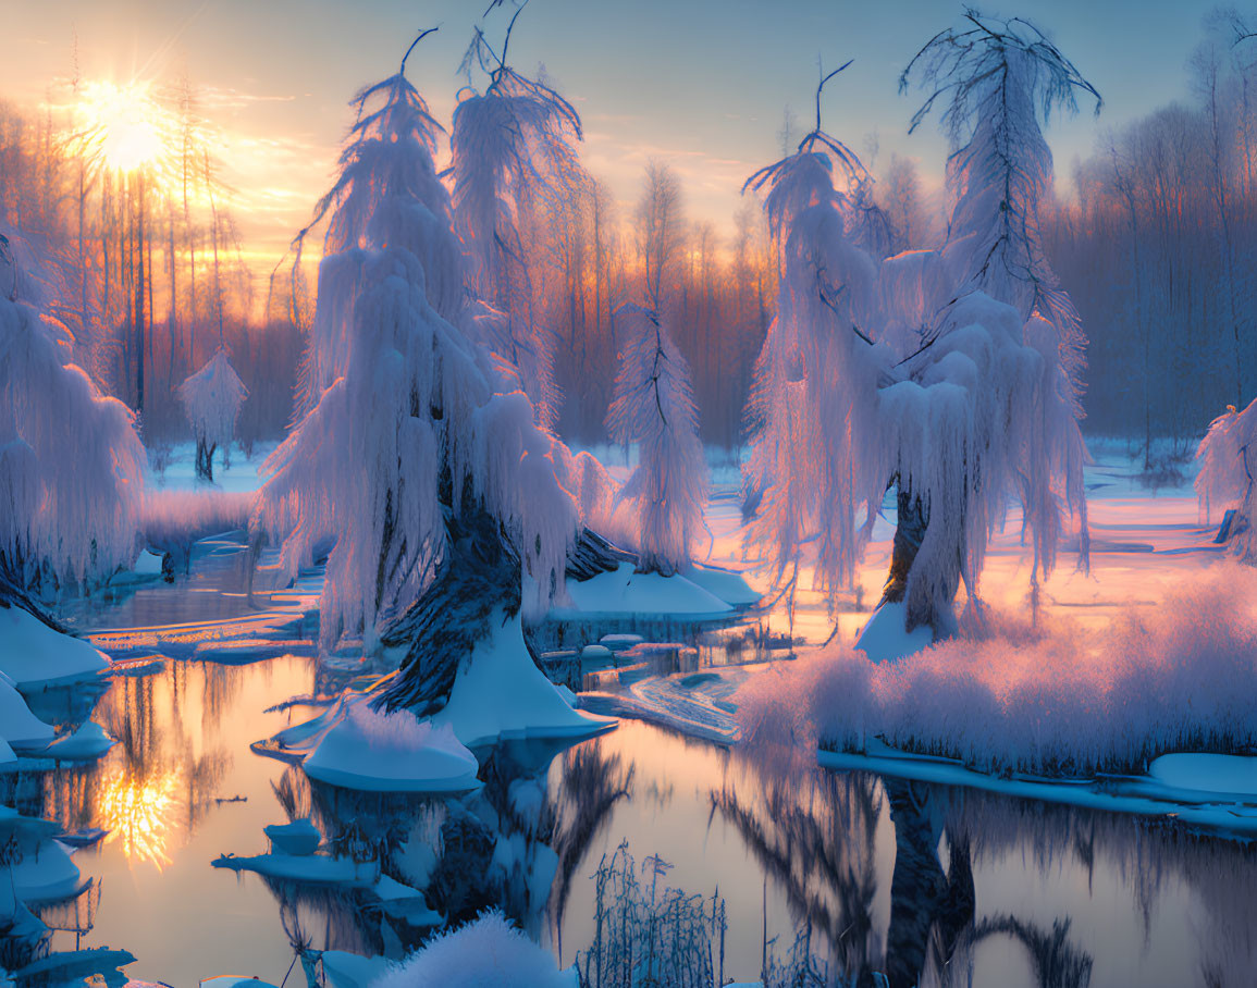
{"label": "still dark river water reflecting the sun and trees", "polygon": [[[197,581],[150,586],[79,620],[229,620],[246,612],[230,596],[240,572],[224,553]],[[309,657],[168,660],[99,696],[92,718],[119,739],[101,762],[0,777],[0,803],[109,831],[75,857],[92,890],[43,910],[62,928],[53,948],[124,948],[132,978],[176,988],[225,973],[279,984],[297,943],[414,949],[426,928],[351,891],[211,866],[264,852],[265,825],[308,815],[397,880],[426,880],[451,918],[499,905],[564,965],[595,938],[591,876],[626,842],[639,862],[671,866],[661,884],[724,900],[723,969],[739,980],[759,975],[766,941],[781,955],[810,933],[832,972],[867,984],[881,972],[895,988],[1254,983],[1257,852],[1242,842],[1169,820],[830,773],[806,753],[757,759],[631,720],[566,749],[480,752],[486,786],[473,797],[356,794],[249,748],[314,713],[268,708],[323,685]],[[63,722],[89,704],[65,691],[36,700]],[[483,880],[499,846],[523,862],[505,887]],[[435,870],[434,848],[445,855]],[[297,967],[288,983],[299,979]]]}

